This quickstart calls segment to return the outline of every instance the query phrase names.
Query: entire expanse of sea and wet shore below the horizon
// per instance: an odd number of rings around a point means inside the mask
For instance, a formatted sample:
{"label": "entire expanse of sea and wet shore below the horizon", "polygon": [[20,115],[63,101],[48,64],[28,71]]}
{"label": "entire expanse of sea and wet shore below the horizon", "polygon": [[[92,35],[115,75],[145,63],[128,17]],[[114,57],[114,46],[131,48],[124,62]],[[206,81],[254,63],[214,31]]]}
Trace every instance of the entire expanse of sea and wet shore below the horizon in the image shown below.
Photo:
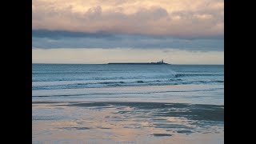
{"label": "entire expanse of sea and wet shore below the horizon", "polygon": [[222,65],[33,64],[32,100],[34,143],[223,141]]}

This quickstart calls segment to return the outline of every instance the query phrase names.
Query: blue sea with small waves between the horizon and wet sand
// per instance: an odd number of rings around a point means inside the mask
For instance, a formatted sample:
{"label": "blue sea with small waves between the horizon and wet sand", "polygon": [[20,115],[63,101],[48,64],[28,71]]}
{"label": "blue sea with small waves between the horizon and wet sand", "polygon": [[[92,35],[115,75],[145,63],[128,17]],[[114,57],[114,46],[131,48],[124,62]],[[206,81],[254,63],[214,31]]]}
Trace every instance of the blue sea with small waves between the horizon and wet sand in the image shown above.
{"label": "blue sea with small waves between the horizon and wet sand", "polygon": [[34,100],[222,105],[224,66],[33,64],[32,90]]}

